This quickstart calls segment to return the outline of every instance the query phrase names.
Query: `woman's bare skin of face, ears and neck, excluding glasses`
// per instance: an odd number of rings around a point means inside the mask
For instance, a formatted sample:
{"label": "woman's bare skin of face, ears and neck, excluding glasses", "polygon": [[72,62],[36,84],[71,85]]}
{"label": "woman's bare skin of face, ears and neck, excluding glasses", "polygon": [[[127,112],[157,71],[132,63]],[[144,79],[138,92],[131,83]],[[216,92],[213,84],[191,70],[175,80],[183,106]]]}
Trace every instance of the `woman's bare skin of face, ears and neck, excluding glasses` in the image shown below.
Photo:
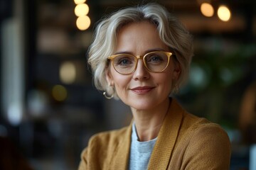
{"label": "woman's bare skin of face, ears and neck, excluding glasses", "polygon": [[[143,21],[129,23],[119,30],[114,54],[143,56],[156,50],[168,52],[169,47],[159,38],[156,26]],[[171,86],[180,72],[172,57],[169,66],[161,73],[148,72],[142,60],[138,61],[135,72],[129,75],[119,74],[112,64],[108,67],[107,81],[114,86],[119,98],[131,107],[140,141],[152,140],[158,135],[169,107]]]}

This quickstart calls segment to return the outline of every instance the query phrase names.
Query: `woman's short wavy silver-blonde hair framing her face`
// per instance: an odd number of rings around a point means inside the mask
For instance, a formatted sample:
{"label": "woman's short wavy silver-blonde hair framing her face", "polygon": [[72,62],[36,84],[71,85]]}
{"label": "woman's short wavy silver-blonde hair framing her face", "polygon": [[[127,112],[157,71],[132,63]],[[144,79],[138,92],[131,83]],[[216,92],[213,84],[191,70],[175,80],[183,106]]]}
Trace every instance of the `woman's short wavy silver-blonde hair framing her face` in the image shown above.
{"label": "woman's short wavy silver-blonde hair framing her face", "polygon": [[142,6],[122,8],[100,20],[95,28],[94,40],[88,50],[90,64],[96,88],[117,97],[107,84],[106,70],[110,62],[107,57],[113,54],[117,45],[117,33],[129,23],[149,21],[153,23],[161,40],[175,53],[176,62],[181,66],[181,74],[176,86],[181,87],[188,77],[193,57],[193,38],[178,19],[164,6],[149,3]]}

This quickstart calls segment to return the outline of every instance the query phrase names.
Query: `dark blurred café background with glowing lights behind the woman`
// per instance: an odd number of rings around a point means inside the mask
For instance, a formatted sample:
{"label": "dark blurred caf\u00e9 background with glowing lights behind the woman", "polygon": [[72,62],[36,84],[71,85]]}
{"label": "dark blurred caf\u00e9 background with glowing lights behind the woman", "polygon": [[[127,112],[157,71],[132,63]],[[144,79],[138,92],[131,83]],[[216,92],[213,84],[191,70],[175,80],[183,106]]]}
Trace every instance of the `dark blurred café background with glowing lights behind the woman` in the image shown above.
{"label": "dark blurred caf\u00e9 background with glowing lights behind the woman", "polygon": [[[230,169],[253,169],[256,2],[155,2],[194,35],[191,75],[175,97],[228,132]],[[129,108],[92,85],[86,57],[95,23],[137,4],[142,1],[0,0],[0,169],[78,169],[91,135],[129,124]]]}

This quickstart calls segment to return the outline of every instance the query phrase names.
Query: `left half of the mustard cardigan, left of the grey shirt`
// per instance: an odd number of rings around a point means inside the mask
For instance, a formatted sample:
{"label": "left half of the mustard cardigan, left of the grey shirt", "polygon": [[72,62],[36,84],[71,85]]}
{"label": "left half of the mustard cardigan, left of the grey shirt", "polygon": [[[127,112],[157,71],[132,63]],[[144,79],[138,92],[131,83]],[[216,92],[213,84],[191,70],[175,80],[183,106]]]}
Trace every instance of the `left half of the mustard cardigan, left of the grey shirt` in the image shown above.
{"label": "left half of the mustard cardigan, left of the grey shirt", "polygon": [[120,130],[93,135],[82,151],[78,170],[127,169],[132,123]]}

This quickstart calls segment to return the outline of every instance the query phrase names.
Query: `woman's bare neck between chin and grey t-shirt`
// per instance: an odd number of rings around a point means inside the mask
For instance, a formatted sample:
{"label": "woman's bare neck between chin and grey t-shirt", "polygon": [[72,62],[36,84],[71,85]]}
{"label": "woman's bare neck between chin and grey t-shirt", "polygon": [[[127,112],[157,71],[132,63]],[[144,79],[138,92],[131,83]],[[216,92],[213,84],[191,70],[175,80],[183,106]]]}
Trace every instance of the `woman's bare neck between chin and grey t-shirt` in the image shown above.
{"label": "woman's bare neck between chin and grey t-shirt", "polygon": [[161,103],[159,107],[147,111],[138,111],[132,108],[139,141],[144,142],[157,137],[168,109],[169,98]]}

